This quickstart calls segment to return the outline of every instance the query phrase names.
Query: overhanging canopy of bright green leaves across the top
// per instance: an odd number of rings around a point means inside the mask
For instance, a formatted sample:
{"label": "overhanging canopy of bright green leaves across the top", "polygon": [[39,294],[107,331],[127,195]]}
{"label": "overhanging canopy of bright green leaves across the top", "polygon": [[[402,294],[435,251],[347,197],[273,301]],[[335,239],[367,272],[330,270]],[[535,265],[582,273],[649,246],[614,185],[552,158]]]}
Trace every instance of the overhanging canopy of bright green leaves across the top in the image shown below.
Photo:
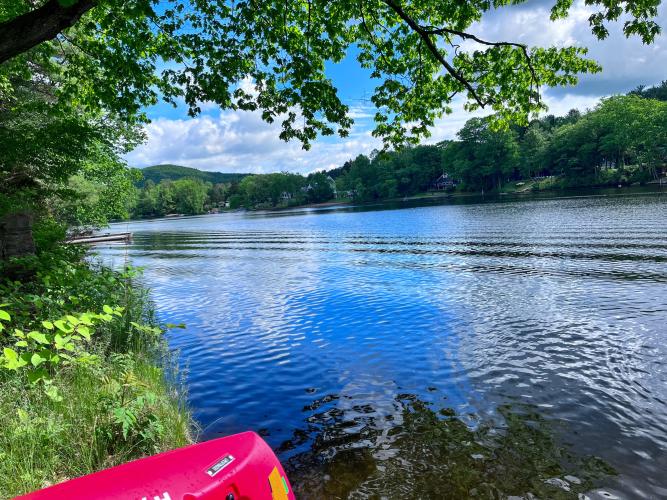
{"label": "overhanging canopy of bright green leaves across the top", "polygon": [[[375,134],[416,142],[451,111],[495,111],[501,124],[526,123],[544,109],[541,86],[568,85],[600,68],[582,47],[527,47],[469,31],[491,11],[521,0],[0,0],[0,88],[35,61],[64,64],[59,93],[79,106],[142,117],[142,106],[183,99],[261,110],[281,121],[283,139],[308,147],[318,134],[346,136],[348,106],[327,76],[328,62],[354,52],[377,86]],[[660,32],[659,0],[586,0],[593,33],[626,17],[627,36]],[[551,19],[573,0],[554,0]],[[545,22],[548,22],[545,19]],[[46,42],[46,43],[45,43]],[[471,50],[459,50],[466,42]],[[243,84],[246,82],[247,84]]]}

